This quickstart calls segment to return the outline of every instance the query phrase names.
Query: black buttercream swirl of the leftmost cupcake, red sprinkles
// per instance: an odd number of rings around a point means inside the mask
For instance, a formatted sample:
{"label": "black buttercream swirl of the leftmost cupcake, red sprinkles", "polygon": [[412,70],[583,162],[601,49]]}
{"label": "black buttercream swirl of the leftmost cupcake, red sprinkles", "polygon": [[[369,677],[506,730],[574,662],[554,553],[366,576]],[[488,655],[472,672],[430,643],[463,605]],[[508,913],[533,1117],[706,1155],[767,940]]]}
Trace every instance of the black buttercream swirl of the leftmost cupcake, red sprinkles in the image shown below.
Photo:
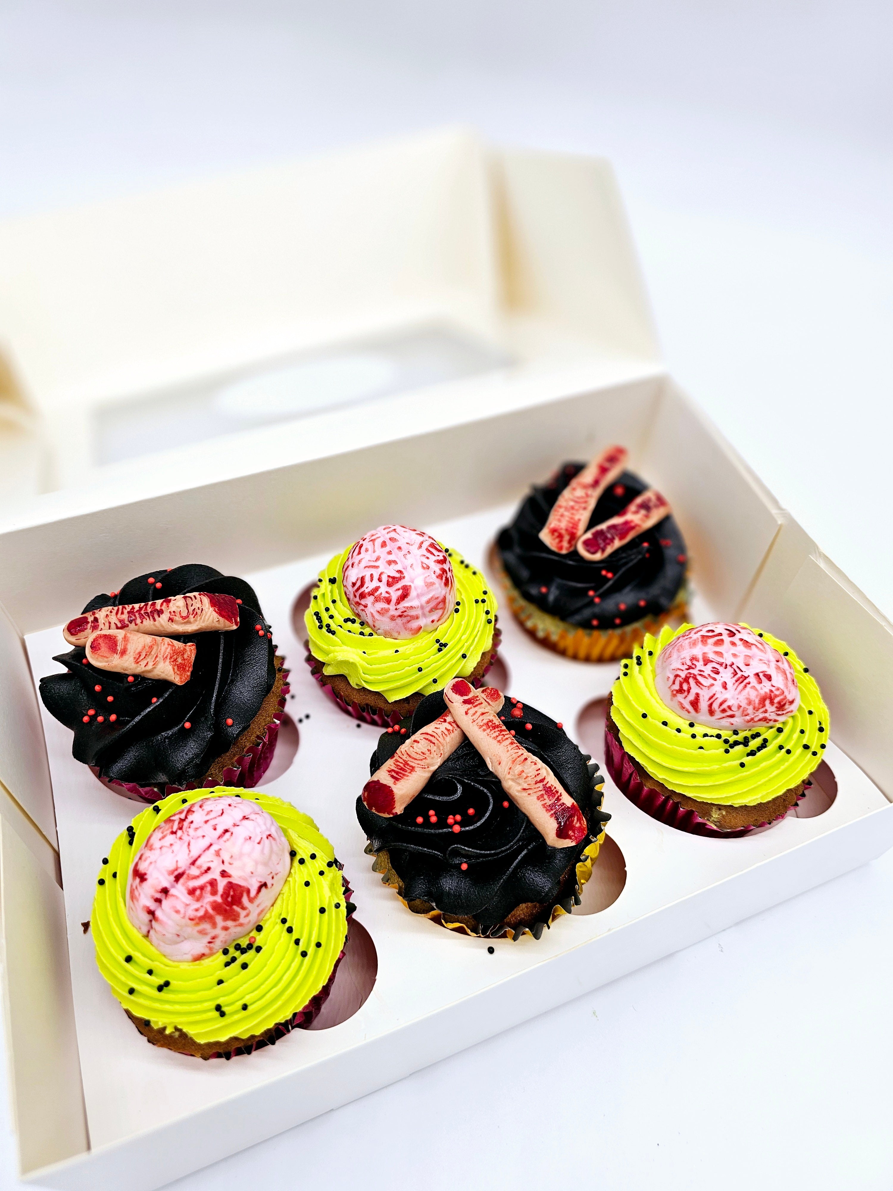
{"label": "black buttercream swirl of the leftmost cupcake, red sprinkles", "polygon": [[[150,575],[157,576],[161,591],[149,584]],[[75,760],[98,767],[100,777],[146,786],[185,786],[200,780],[218,757],[229,753],[273,690],[274,648],[257,596],[242,579],[223,575],[213,567],[194,563],[146,572],[131,579],[114,597],[94,597],[83,611],[187,592],[232,596],[242,600],[242,606],[237,629],[174,638],[196,647],[192,676],[182,686],[143,676],[129,682],[126,674],[85,666],[82,648],[54,657],[67,673],[40,679],[44,706],[74,731]],[[96,686],[102,690],[96,692]],[[90,707],[96,715],[85,724]],[[110,715],[115,716],[114,723]],[[104,716],[105,722],[98,723],[98,716]]]}

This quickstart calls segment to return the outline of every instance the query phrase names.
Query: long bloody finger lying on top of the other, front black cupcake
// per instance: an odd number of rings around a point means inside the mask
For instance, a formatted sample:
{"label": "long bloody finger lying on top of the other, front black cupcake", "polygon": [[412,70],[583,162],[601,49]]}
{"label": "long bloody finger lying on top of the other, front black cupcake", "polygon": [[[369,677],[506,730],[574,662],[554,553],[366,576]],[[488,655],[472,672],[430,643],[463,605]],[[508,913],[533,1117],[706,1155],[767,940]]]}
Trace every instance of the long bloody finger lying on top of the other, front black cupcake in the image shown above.
{"label": "long bloody finger lying on top of the other, front black cupcake", "polygon": [[527,753],[495,712],[463,678],[447,684],[443,697],[450,713],[474,744],[502,790],[552,848],[569,848],[586,838],[586,817],[539,757]]}

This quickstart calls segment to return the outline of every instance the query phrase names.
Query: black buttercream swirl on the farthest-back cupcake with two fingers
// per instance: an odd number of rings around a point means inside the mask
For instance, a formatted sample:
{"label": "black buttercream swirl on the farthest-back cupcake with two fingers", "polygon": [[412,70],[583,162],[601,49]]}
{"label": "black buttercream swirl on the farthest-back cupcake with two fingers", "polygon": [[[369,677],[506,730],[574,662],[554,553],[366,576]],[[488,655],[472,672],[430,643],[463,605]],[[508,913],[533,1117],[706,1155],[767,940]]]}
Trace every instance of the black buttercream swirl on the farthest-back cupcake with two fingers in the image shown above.
{"label": "black buttercream swirl on the farthest-back cupcake with two fingers", "polygon": [[[510,579],[531,604],[581,629],[616,629],[666,612],[686,574],[686,544],[672,516],[602,562],[588,562],[577,550],[557,554],[539,540],[558,493],[583,467],[566,463],[548,484],[535,486],[500,532],[499,553]],[[624,472],[599,498],[587,529],[616,517],[647,488]]]}

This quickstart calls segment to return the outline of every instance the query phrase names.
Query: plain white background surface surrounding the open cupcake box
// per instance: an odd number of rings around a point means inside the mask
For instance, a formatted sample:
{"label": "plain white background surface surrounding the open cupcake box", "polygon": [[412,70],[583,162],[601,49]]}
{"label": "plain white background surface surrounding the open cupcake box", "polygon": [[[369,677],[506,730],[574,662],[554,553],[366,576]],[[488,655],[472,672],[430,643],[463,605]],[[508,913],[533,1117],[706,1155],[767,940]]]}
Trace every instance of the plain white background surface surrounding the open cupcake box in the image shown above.
{"label": "plain white background surface surrounding the open cupcake box", "polygon": [[[891,616],[892,42],[853,0],[0,0],[0,214],[444,123],[605,154],[672,372]],[[891,940],[893,854],[176,1186],[888,1189]]]}

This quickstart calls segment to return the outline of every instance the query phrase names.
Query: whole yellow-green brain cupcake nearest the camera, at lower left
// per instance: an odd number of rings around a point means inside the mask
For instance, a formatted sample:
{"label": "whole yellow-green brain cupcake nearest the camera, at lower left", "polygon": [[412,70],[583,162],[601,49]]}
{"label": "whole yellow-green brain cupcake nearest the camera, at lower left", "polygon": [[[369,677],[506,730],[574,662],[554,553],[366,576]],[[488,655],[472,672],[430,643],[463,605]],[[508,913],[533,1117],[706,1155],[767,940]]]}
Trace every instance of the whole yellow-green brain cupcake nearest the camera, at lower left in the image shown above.
{"label": "whole yellow-green brain cupcake nearest the camera, at lower left", "polygon": [[250,1054],[319,1012],[349,898],[331,843],[291,803],[229,787],[170,794],[102,858],[96,964],[155,1046]]}

